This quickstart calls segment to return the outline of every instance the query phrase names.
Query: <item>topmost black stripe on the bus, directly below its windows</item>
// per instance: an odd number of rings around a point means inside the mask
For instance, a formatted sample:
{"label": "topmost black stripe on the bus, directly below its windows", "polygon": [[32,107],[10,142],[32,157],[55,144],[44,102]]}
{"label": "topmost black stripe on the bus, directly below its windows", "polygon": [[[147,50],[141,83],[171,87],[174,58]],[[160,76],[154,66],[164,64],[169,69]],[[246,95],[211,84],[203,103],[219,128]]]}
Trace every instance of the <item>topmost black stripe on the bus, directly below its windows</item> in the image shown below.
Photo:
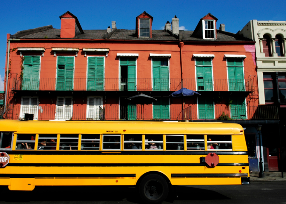
{"label": "topmost black stripe on the bus, directly below its windows", "polygon": [[23,155],[207,155],[211,152],[217,155],[247,155],[247,151],[69,151],[69,150],[15,150],[5,151],[7,154]]}

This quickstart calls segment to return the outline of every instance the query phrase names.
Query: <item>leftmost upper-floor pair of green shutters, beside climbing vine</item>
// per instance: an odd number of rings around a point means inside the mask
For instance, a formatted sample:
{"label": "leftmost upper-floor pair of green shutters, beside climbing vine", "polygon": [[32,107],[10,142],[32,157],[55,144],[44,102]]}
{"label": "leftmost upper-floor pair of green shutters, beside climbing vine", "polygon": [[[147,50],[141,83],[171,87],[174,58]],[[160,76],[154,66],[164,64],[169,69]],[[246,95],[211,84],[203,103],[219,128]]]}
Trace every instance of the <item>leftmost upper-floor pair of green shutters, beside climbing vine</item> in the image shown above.
{"label": "leftmost upper-floor pair of green shutters, beside climbing vine", "polygon": [[40,56],[26,56],[23,64],[22,90],[39,90]]}

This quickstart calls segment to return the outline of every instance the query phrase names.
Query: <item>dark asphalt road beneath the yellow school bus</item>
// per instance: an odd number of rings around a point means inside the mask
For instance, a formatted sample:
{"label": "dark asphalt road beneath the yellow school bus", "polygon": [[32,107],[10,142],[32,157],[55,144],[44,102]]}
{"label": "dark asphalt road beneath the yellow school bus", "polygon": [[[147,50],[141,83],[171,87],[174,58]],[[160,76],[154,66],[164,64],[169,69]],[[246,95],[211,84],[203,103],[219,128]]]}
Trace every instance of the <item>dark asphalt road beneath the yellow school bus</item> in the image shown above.
{"label": "dark asphalt road beneath the yellow school bus", "polygon": [[[184,203],[286,204],[286,182],[253,182],[250,185],[177,186],[176,200]],[[36,186],[34,191],[9,191],[0,187],[0,204],[125,204],[142,203],[135,188],[126,186]]]}

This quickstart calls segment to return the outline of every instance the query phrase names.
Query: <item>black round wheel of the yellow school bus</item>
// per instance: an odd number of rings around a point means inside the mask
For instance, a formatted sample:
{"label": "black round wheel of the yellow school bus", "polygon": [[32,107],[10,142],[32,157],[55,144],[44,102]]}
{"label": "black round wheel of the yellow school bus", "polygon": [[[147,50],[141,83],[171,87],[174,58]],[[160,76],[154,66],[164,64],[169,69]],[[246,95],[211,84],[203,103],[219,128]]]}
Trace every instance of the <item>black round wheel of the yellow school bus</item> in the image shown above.
{"label": "black round wheel of the yellow school bus", "polygon": [[168,191],[168,183],[157,174],[147,175],[139,185],[139,194],[145,203],[162,203],[168,196]]}

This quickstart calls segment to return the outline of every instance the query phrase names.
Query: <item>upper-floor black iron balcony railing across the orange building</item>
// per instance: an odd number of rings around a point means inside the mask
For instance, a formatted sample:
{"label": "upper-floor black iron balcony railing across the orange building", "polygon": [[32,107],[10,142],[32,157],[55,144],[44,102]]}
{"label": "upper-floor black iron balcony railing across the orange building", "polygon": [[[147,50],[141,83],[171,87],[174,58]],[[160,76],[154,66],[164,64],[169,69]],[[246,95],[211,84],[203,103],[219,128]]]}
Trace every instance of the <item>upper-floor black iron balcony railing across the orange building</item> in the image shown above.
{"label": "upper-floor black iron balcony railing across the orange building", "polygon": [[13,78],[12,90],[254,91],[252,79]]}

